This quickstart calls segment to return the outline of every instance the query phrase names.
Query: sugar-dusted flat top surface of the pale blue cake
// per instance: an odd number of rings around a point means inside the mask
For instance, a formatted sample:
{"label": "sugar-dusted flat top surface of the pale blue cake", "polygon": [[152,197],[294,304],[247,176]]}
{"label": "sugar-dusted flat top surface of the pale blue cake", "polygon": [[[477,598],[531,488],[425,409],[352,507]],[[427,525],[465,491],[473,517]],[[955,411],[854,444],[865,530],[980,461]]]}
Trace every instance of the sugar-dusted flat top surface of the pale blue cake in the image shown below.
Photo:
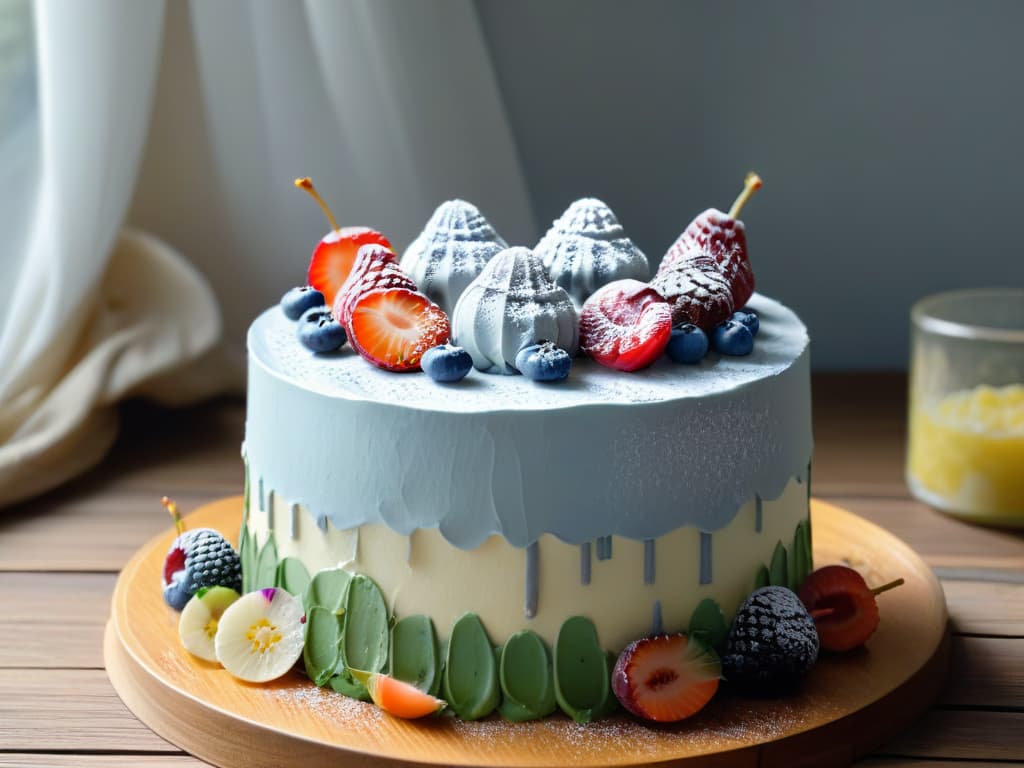
{"label": "sugar-dusted flat top surface of the pale blue cake", "polygon": [[580,358],[571,378],[556,386],[478,371],[458,385],[445,385],[422,374],[395,375],[368,366],[347,347],[329,355],[312,354],[296,343],[294,324],[276,306],[253,323],[249,352],[254,365],[274,376],[348,400],[446,413],[558,410],[596,402],[628,406],[705,397],[790,368],[808,344],[804,324],[791,309],[765,296],[756,294],[749,306],[761,318],[758,341],[749,355],[710,353],[695,366],[663,358],[631,375]]}

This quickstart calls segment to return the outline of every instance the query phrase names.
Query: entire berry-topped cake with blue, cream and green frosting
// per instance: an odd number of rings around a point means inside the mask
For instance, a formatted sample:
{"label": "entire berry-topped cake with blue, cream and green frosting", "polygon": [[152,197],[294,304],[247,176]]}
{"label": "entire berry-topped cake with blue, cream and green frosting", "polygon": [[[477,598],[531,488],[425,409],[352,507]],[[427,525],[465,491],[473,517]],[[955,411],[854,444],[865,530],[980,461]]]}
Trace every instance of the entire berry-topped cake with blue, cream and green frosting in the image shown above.
{"label": "entire berry-topped cake with blue, cream and green frosting", "polygon": [[[304,643],[317,685],[381,703],[381,686],[408,684],[407,716],[467,720],[557,707],[587,722],[616,699],[687,717],[723,668],[767,679],[746,638],[771,635],[771,616],[798,629],[770,674],[806,672],[808,336],[754,293],[736,217],[759,186],[750,175],[728,214],[694,219],[649,283],[594,199],[534,250],[451,201],[400,262],[380,232],[330,217],[310,285],[249,329],[248,594],[233,615],[226,593],[193,611],[201,654],[243,679],[283,674],[294,657],[265,652],[278,601],[303,614],[289,647]],[[186,536],[169,602],[199,584]],[[218,610],[238,636],[217,631],[214,648],[202,630]],[[676,692],[685,706],[665,709]]]}

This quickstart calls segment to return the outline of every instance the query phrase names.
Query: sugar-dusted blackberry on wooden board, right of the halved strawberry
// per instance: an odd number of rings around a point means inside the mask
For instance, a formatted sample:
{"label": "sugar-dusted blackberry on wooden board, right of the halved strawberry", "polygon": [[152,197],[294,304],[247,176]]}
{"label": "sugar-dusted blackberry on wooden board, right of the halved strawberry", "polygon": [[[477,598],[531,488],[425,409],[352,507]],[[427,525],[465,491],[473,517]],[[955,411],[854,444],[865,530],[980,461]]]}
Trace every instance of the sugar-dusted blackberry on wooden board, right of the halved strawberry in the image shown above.
{"label": "sugar-dusted blackberry on wooden board, right of the halved strawberry", "polygon": [[740,688],[784,693],[817,657],[818,632],[800,598],[785,587],[762,587],[732,621],[722,673]]}

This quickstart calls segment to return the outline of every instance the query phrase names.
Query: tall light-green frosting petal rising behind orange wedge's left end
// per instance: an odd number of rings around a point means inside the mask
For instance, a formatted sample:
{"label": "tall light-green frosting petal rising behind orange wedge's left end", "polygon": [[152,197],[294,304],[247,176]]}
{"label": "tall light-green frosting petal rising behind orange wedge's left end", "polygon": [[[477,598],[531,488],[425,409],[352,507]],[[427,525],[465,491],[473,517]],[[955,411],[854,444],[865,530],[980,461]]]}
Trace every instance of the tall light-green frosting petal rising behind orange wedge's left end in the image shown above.
{"label": "tall light-green frosting petal rising behind orange wedge's left end", "polygon": [[[341,660],[348,669],[382,672],[387,665],[388,614],[380,588],[369,577],[356,573],[345,596]],[[353,686],[362,687],[347,676]]]}

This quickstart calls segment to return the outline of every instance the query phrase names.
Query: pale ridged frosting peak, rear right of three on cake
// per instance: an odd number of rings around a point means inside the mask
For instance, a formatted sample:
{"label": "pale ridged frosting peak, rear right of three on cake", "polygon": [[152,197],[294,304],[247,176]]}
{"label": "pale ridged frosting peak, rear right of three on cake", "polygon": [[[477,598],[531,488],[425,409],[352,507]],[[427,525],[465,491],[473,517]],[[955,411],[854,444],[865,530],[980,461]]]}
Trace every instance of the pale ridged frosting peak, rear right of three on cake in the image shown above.
{"label": "pale ridged frosting peak, rear right of three on cake", "polygon": [[612,281],[646,282],[650,276],[647,257],[626,237],[611,209],[595,198],[570,205],[537,244],[535,253],[577,306]]}

